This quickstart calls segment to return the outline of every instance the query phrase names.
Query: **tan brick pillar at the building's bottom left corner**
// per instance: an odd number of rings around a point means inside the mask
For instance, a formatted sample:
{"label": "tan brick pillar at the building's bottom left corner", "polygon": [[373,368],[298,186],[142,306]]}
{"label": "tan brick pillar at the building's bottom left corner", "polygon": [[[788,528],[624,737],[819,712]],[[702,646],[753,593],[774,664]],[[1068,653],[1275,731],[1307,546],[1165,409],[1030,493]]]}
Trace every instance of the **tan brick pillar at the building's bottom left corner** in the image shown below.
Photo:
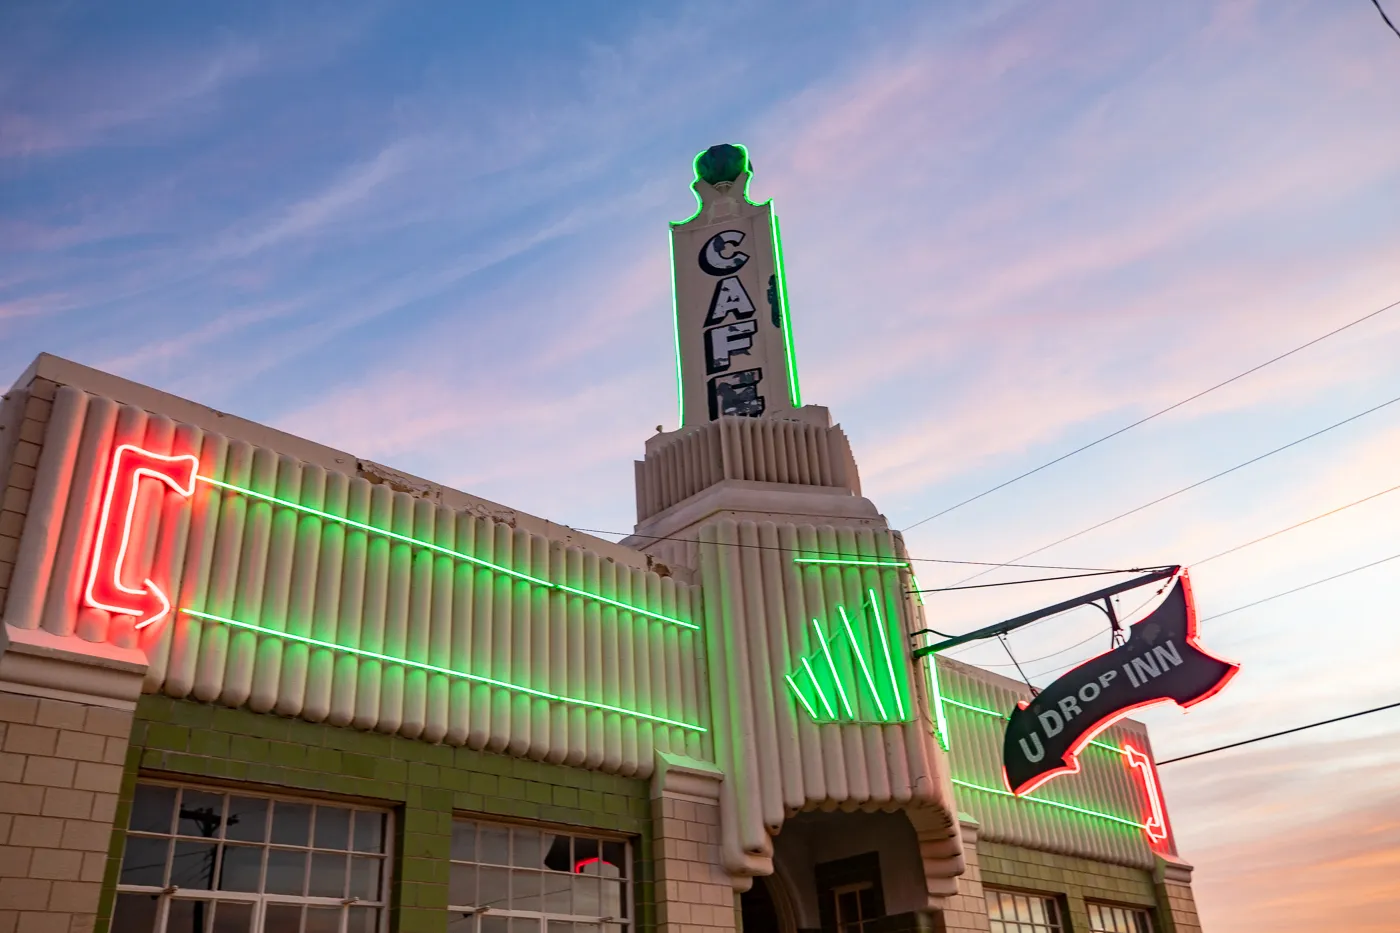
{"label": "tan brick pillar at the building's bottom left corner", "polygon": [[88,933],[132,713],[0,692],[0,933]]}

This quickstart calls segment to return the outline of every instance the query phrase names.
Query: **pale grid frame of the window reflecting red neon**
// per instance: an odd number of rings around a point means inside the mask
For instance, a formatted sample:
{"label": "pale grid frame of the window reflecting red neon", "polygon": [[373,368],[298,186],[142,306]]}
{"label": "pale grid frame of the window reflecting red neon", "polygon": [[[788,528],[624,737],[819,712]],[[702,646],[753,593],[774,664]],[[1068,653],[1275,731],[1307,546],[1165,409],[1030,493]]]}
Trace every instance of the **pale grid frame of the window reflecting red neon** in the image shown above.
{"label": "pale grid frame of the window reflecting red neon", "polygon": [[[619,881],[622,884],[622,901],[620,901],[620,906],[623,909],[623,916],[605,919],[605,918],[601,918],[601,916],[589,916],[589,915],[582,915],[582,913],[557,913],[557,912],[545,911],[543,909],[543,901],[540,902],[540,908],[542,909],[539,909],[539,911],[517,911],[517,909],[512,909],[510,906],[496,908],[496,906],[490,906],[490,905],[487,905],[486,908],[476,906],[476,905],[463,906],[463,905],[452,904],[451,902],[451,897],[452,897],[452,894],[451,894],[452,892],[452,869],[455,866],[459,866],[459,864],[462,864],[462,866],[472,866],[476,870],[480,870],[483,867],[487,867],[487,869],[501,869],[501,870],[505,870],[505,871],[524,871],[524,873],[539,874],[539,876],[545,876],[545,877],[547,877],[549,874],[554,874],[556,877],[561,877],[561,876],[566,874],[563,871],[553,871],[553,870],[547,870],[547,869],[533,869],[533,867],[529,867],[529,866],[511,864],[514,862],[514,857],[515,857],[515,842],[514,842],[515,838],[514,838],[514,835],[511,835],[510,843],[508,843],[510,845],[508,855],[505,856],[507,864],[497,864],[494,862],[482,862],[482,860],[479,860],[480,856],[476,856],[477,860],[468,862],[465,859],[454,859],[452,853],[448,853],[448,906],[447,906],[447,913],[448,913],[448,930],[449,930],[449,933],[462,933],[461,927],[458,927],[454,932],[454,926],[452,925],[456,923],[458,920],[472,920],[472,925],[468,929],[470,930],[470,933],[476,933],[480,929],[480,919],[482,918],[487,918],[487,916],[498,916],[498,918],[507,918],[507,919],[514,919],[514,920],[538,920],[538,923],[539,923],[539,932],[540,933],[546,933],[546,930],[549,930],[549,926],[550,926],[552,922],[559,922],[559,923],[592,923],[592,925],[598,926],[599,930],[605,930],[605,932],[606,930],[620,930],[622,933],[637,933],[637,929],[638,929],[637,927],[637,923],[638,923],[638,918],[637,918],[637,881],[638,881],[638,878],[637,878],[637,849],[634,846],[636,841],[634,841],[633,836],[629,836],[629,835],[620,834],[620,832],[613,832],[613,831],[609,831],[609,829],[596,829],[594,827],[575,827],[575,825],[567,825],[567,824],[535,822],[535,821],[529,821],[529,820],[510,820],[510,818],[498,818],[498,817],[494,817],[491,814],[476,814],[476,813],[454,813],[452,814],[454,829],[456,828],[458,824],[472,824],[473,827],[477,827],[477,828],[486,827],[486,828],[491,828],[491,829],[505,829],[505,831],[526,829],[526,831],[539,832],[542,835],[553,834],[553,835],[559,835],[559,836],[568,836],[571,841],[573,839],[589,839],[589,841],[594,841],[594,842],[599,843],[599,850],[601,850],[602,843],[605,843],[605,842],[622,845],[623,846],[623,862],[624,862],[623,870],[624,870],[624,874],[620,878],[603,878],[603,880]],[[570,877],[573,877],[574,873],[567,873],[567,874]],[[578,874],[581,874],[581,873],[578,873]],[[602,876],[588,876],[588,877],[602,878]]]}

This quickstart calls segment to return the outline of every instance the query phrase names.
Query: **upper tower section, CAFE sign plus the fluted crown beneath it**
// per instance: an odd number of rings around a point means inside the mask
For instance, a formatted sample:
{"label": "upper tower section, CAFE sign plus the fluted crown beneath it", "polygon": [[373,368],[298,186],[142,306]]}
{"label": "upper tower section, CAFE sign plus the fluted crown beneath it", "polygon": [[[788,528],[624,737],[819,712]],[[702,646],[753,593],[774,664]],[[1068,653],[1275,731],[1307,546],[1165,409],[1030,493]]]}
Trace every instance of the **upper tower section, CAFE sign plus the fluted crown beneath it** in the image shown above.
{"label": "upper tower section, CAFE sign plus the fluted crown beneath it", "polygon": [[647,441],[624,542],[671,566],[694,566],[682,532],[717,517],[889,527],[846,433],[802,403],[778,217],[752,177],[748,150],[711,146],[694,214],[671,224],[680,427]]}

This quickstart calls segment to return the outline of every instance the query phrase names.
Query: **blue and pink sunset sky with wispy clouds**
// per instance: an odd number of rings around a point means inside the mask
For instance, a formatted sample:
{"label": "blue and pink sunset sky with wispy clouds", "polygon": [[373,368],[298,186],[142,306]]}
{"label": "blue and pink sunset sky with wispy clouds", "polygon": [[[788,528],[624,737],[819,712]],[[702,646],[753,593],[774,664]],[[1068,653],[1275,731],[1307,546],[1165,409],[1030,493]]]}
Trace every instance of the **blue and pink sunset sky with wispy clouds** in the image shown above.
{"label": "blue and pink sunset sky with wispy clouds", "polygon": [[[1397,87],[1366,0],[15,0],[0,384],[49,352],[620,537],[629,461],[676,422],[666,221],[694,153],[743,143],[805,401],[906,528],[1400,300]],[[1400,308],[909,551],[1039,549],[1396,398],[1397,354]],[[1400,403],[1029,560],[1193,565],[1389,489],[1397,454]],[[1397,523],[1400,492],[1204,562],[1200,615],[1390,556]],[[1158,756],[1400,699],[1397,580],[1203,622],[1242,672],[1144,713]],[[960,632],[1084,588],[927,612]],[[1011,647],[1044,684],[1102,629],[1082,609]],[[1205,929],[1393,930],[1397,766],[1400,712],[1165,765]]]}

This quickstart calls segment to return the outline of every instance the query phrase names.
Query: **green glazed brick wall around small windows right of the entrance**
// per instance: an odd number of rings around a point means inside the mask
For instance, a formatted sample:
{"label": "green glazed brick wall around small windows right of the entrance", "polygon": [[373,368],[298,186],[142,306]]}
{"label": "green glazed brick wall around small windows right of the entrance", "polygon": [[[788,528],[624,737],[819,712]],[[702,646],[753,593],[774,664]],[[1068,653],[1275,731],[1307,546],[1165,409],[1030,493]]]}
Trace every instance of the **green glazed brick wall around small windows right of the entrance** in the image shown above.
{"label": "green glazed brick wall around small windows right of the entrance", "polygon": [[1089,929],[1085,901],[1147,908],[1152,913],[1154,929],[1162,929],[1151,871],[1001,842],[979,842],[977,857],[984,888],[1063,895],[1070,906],[1071,930]]}

